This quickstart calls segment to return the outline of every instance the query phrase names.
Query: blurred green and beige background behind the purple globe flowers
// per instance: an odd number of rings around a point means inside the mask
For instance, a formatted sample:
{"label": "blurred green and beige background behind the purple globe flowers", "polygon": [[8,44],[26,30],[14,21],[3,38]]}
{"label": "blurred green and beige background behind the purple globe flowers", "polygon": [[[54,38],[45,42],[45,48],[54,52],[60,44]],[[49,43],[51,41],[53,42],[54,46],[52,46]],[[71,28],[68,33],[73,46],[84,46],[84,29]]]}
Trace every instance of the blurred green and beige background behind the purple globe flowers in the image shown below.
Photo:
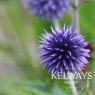
{"label": "blurred green and beige background behind the purple globe flowers", "polygon": [[[72,22],[67,12],[60,25]],[[79,95],[95,95],[95,2],[82,4],[79,10],[81,34],[90,43],[92,58],[86,71],[93,79],[76,83]],[[0,95],[71,95],[64,80],[51,80],[39,65],[38,40],[51,22],[29,15],[21,0],[0,0]],[[89,85],[88,85],[89,84]],[[87,87],[88,85],[88,87]]]}

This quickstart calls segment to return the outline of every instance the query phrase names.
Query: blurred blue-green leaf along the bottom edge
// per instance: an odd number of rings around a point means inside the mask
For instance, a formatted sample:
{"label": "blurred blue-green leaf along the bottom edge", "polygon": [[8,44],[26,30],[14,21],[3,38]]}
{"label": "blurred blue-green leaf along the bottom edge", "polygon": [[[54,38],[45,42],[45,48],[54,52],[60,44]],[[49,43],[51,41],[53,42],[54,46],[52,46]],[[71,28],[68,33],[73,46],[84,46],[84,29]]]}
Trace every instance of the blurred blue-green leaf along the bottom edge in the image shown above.
{"label": "blurred blue-green leaf along the bottom edge", "polygon": [[22,82],[19,84],[19,87],[31,91],[37,95],[67,95],[62,92],[58,86],[48,87],[45,83],[41,81],[36,82]]}

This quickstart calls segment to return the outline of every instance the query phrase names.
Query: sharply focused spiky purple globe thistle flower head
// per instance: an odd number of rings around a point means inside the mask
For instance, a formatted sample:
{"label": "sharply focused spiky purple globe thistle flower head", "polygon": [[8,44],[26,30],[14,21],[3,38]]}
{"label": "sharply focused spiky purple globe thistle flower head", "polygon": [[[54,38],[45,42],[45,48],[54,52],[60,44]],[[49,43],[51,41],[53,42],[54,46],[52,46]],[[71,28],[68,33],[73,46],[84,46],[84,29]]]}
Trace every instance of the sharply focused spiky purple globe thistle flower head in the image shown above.
{"label": "sharply focused spiky purple globe thistle flower head", "polygon": [[61,30],[51,28],[52,32],[42,34],[40,48],[41,64],[48,73],[80,72],[88,63],[90,50],[85,47],[84,37],[73,31],[73,27],[65,27]]}

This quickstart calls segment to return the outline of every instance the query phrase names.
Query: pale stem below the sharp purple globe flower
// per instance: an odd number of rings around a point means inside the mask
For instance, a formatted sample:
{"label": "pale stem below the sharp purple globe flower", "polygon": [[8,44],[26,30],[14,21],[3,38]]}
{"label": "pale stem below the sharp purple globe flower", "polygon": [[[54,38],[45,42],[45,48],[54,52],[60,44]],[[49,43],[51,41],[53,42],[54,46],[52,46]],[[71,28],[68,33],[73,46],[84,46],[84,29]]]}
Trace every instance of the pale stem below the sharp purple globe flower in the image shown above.
{"label": "pale stem below the sharp purple globe flower", "polygon": [[69,84],[70,84],[70,88],[71,88],[71,91],[72,91],[72,95],[78,95],[78,94],[77,94],[76,87],[75,87],[75,83],[74,83],[74,80],[73,80],[71,74],[72,74],[72,73],[70,73],[69,76],[68,76],[68,81],[69,81]]}

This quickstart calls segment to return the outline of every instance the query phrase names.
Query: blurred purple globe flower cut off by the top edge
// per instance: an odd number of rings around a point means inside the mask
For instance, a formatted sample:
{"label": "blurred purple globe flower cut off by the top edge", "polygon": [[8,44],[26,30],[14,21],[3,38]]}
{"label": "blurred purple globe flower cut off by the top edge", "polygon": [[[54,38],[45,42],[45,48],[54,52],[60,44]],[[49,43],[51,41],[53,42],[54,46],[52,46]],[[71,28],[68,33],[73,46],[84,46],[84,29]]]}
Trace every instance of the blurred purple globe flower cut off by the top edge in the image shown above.
{"label": "blurred purple globe flower cut off by the top edge", "polygon": [[69,8],[69,0],[23,0],[30,11],[44,19],[60,18]]}

